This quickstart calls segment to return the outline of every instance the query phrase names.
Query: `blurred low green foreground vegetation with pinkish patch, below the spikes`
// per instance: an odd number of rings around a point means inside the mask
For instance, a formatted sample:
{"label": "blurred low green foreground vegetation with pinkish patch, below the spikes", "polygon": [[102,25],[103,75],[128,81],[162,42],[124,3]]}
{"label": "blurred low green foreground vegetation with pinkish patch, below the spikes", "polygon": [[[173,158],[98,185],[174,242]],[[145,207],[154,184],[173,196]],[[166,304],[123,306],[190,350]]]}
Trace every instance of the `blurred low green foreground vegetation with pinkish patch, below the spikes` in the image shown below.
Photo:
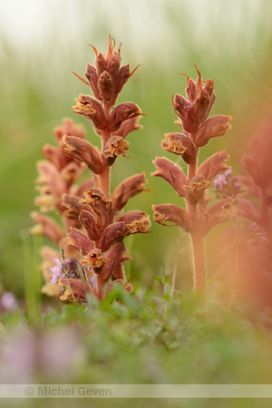
{"label": "blurred low green foreground vegetation with pinkish patch, below the spikes", "polygon": [[[115,287],[102,303],[45,306],[35,323],[20,310],[2,317],[3,384],[271,384],[271,313],[254,304],[224,304],[170,287]],[[160,296],[158,294],[160,293]],[[10,364],[12,358],[13,364]],[[140,395],[139,395],[140,396]],[[197,397],[197,395],[196,395]],[[36,406],[24,400],[20,407]],[[39,405],[74,406],[73,399]],[[81,406],[255,408],[255,399],[81,400]],[[10,406],[6,404],[6,406]],[[14,405],[11,405],[14,406]],[[18,406],[18,405],[16,405]]]}

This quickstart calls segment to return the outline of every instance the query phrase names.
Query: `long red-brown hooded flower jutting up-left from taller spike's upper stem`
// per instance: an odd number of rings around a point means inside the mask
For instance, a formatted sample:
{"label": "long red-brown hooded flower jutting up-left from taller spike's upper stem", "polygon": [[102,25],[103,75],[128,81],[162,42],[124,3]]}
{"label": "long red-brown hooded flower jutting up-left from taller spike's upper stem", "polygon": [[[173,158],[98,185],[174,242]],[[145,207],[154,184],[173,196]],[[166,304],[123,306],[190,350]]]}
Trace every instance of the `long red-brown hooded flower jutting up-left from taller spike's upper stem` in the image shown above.
{"label": "long red-brown hooded flower jutting up-left from taller spike's upper stem", "polygon": [[100,152],[89,141],[83,141],[75,136],[63,136],[63,144],[63,153],[83,161],[96,174],[102,172],[103,162]]}

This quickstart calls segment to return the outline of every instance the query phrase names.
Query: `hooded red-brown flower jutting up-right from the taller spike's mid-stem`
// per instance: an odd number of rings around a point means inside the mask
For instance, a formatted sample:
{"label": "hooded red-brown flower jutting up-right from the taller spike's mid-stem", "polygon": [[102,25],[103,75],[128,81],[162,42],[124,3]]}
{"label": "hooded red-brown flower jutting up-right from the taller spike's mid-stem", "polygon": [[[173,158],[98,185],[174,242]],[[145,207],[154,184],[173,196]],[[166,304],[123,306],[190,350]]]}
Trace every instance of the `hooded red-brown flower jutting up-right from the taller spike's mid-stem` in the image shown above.
{"label": "hooded red-brown flower jutting up-right from the taller spike's mid-stem", "polygon": [[122,209],[131,197],[143,191],[146,183],[144,172],[123,180],[112,192],[112,212]]}

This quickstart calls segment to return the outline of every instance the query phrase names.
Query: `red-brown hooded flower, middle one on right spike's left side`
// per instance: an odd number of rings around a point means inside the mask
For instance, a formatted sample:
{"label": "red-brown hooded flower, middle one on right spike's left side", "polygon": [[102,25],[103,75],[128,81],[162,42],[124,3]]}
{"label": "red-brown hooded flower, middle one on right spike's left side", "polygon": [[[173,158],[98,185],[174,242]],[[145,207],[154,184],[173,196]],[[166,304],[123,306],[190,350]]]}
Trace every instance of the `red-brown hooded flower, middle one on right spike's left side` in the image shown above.
{"label": "red-brown hooded flower, middle one on right spike's left side", "polygon": [[151,176],[161,177],[166,180],[180,197],[185,197],[184,185],[187,180],[180,167],[165,157],[156,157],[153,163],[157,170],[153,171]]}

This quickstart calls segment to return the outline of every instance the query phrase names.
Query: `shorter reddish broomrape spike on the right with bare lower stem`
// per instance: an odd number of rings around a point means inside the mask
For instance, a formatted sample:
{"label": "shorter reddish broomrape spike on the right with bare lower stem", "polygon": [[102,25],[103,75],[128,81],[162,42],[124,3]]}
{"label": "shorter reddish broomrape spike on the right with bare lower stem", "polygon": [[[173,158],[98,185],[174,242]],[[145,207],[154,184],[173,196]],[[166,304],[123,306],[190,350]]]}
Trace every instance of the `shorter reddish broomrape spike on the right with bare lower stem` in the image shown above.
{"label": "shorter reddish broomrape spike on the right with bare lower stem", "polygon": [[[153,163],[156,171],[151,175],[166,180],[186,201],[186,210],[174,204],[153,205],[153,217],[164,226],[176,225],[187,231],[191,238],[194,260],[194,287],[205,290],[207,272],[204,238],[209,229],[232,219],[231,195],[220,197],[221,201],[209,205],[208,197],[211,180],[217,176],[215,188],[223,188],[228,183],[226,161],[227,151],[219,151],[201,165],[198,161],[199,148],[205,146],[211,138],[223,136],[230,129],[230,116],[216,115],[209,118],[209,112],[215,102],[214,82],[202,81],[199,69],[194,64],[198,78],[193,81],[186,76],[187,97],[176,94],[172,97],[174,111],[178,116],[176,123],[181,132],[166,133],[161,141],[165,151],[180,156],[188,165],[187,175],[180,166],[164,157],[157,157]],[[184,74],[182,74],[184,75]],[[220,174],[226,171],[225,178]],[[220,178],[221,177],[221,178]],[[235,187],[238,189],[238,183]]]}

